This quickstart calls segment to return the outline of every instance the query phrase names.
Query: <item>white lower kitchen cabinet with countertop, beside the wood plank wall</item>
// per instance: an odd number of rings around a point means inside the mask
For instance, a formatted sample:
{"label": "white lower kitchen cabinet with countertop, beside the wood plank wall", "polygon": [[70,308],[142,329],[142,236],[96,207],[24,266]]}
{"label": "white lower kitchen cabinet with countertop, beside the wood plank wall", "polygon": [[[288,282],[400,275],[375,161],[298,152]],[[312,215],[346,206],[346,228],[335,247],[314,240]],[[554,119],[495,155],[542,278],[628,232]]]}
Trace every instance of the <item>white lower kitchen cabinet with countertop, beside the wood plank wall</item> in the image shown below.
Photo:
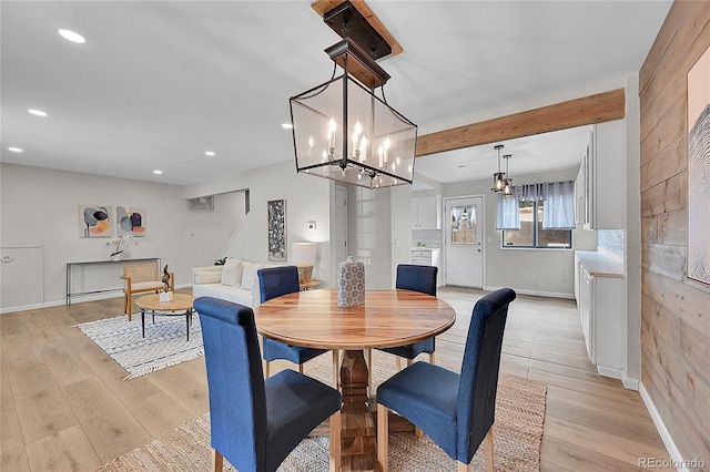
{"label": "white lower kitchen cabinet with countertop, beside the wood plank wall", "polygon": [[596,252],[578,250],[575,259],[587,353],[600,374],[622,379],[627,339],[623,267]]}

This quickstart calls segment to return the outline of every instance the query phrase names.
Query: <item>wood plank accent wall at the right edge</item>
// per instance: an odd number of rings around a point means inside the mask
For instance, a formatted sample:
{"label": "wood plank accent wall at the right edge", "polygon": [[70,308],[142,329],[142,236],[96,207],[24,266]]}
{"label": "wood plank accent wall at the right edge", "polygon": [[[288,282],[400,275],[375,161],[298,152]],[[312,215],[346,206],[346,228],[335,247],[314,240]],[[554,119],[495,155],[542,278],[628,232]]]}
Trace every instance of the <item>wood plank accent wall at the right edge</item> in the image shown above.
{"label": "wood plank accent wall at the right edge", "polygon": [[[676,1],[639,74],[641,382],[684,460],[710,468],[710,287],[686,279],[687,75],[710,2]],[[703,469],[707,470],[707,469]]]}

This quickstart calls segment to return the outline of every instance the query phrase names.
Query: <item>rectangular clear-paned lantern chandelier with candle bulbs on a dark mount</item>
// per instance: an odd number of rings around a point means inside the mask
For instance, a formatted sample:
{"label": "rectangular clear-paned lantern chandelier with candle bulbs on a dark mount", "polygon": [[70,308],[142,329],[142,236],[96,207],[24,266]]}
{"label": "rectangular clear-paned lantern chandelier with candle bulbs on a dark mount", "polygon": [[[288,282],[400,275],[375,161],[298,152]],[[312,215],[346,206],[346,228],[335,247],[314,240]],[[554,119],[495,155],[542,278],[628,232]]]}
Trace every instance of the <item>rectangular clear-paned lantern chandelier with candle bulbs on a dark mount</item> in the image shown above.
{"label": "rectangular clear-paned lantern chandelier with candle bulbs on a dark mount", "polygon": [[343,38],[325,50],[343,74],[290,100],[296,171],[367,188],[412,184],[417,125],[375,96],[389,79],[375,60],[389,45],[349,1],[323,20]]}

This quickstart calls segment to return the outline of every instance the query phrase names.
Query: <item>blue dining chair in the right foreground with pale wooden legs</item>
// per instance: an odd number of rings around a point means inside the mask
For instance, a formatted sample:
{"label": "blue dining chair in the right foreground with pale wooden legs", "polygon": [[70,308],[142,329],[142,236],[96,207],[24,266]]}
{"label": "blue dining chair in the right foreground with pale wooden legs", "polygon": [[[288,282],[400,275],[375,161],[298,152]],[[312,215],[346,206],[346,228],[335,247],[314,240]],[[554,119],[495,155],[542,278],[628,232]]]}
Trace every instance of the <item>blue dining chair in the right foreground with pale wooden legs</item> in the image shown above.
{"label": "blue dining chair in the right foreground with pale wooden legs", "polygon": [[465,471],[485,438],[486,470],[493,471],[493,423],[508,305],[501,288],[474,306],[462,373],[416,362],[377,388],[377,459],[387,470],[388,409],[412,421]]}

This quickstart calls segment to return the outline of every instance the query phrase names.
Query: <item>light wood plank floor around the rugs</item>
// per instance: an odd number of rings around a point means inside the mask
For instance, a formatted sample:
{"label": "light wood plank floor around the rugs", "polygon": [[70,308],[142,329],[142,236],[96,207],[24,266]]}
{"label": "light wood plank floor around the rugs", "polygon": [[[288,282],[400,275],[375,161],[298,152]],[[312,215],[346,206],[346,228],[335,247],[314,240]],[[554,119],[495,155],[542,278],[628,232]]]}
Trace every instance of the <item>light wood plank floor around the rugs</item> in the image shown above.
{"label": "light wood plank floor around the rugs", "polygon": [[[437,338],[439,359],[460,360],[481,295],[439,289],[457,312]],[[125,371],[72,328],[121,315],[122,305],[0,315],[0,471],[93,470],[209,410],[203,359],[123,381]],[[548,384],[542,471],[640,470],[638,458],[668,458],[638,392],[596,373],[572,300],[519,296],[503,350],[501,370]]]}

